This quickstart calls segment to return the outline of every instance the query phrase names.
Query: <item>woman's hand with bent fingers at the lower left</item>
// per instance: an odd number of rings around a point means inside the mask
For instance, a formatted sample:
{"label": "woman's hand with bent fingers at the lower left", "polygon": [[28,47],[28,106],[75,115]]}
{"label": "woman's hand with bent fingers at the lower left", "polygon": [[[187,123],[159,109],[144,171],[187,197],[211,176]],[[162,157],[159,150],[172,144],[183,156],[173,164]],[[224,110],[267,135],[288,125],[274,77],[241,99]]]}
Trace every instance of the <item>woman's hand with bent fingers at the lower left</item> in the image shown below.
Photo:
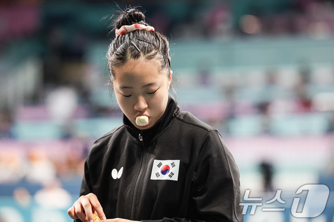
{"label": "woman's hand with bent fingers at the lower left", "polygon": [[74,202],[73,206],[67,210],[70,218],[79,218],[82,221],[88,222],[93,222],[93,212],[96,212],[102,220],[106,219],[101,204],[94,193],[79,197],[79,199]]}

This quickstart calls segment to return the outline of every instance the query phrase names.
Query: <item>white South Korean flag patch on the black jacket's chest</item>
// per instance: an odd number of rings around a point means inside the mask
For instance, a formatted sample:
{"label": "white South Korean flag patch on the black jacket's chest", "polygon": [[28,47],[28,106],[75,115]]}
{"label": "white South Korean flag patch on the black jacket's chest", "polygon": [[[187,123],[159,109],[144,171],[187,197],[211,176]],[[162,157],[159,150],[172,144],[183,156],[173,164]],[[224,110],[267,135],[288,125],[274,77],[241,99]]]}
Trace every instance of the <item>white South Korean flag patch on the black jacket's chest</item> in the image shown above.
{"label": "white South Korean flag patch on the black jacket's chest", "polygon": [[180,160],[154,160],[151,180],[177,180]]}

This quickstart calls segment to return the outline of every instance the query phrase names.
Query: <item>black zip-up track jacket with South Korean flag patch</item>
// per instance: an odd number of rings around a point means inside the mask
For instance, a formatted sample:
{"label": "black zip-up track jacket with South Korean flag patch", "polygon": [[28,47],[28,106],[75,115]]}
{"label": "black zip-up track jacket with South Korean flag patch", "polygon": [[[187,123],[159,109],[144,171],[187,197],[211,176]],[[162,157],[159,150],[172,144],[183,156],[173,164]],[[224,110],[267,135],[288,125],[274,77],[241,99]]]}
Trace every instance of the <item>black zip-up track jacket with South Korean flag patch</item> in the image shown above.
{"label": "black zip-up track jacket with South Korean flag patch", "polygon": [[140,136],[125,115],[123,123],[94,143],[80,189],[97,196],[107,219],[243,221],[239,170],[216,129],[171,95]]}

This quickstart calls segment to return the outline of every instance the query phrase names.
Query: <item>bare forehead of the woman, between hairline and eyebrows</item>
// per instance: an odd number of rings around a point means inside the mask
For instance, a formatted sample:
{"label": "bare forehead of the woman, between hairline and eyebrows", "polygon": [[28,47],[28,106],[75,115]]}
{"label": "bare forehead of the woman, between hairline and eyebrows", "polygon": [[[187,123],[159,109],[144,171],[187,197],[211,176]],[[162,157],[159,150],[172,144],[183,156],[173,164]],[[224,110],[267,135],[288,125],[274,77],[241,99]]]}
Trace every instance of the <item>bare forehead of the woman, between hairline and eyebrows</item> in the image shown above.
{"label": "bare forehead of the woman, between hairline and eyebrows", "polygon": [[[161,74],[159,65],[152,60],[131,60],[115,69],[115,79],[121,86],[145,85],[167,79]],[[119,86],[120,87],[120,86]]]}

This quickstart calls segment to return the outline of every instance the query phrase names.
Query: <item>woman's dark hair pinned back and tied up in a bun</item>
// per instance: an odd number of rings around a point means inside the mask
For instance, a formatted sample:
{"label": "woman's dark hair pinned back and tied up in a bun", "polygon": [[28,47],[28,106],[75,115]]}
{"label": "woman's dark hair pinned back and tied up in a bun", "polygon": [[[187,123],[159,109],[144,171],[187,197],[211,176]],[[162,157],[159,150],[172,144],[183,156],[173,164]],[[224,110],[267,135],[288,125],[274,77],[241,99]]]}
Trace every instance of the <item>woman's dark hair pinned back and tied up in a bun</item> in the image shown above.
{"label": "woman's dark hair pinned back and tied up in a bun", "polygon": [[[120,15],[114,20],[113,27],[120,29],[123,25],[143,24],[145,22],[143,12],[135,8],[120,10]],[[110,87],[113,88],[113,78],[115,69],[121,67],[126,62],[136,59],[151,60],[156,58],[162,74],[169,77],[170,74],[170,52],[169,43],[165,35],[158,31],[134,30],[126,34],[116,36],[110,43],[107,52],[108,68],[110,74]],[[176,95],[171,83],[171,89]],[[112,94],[112,92],[111,92]]]}

